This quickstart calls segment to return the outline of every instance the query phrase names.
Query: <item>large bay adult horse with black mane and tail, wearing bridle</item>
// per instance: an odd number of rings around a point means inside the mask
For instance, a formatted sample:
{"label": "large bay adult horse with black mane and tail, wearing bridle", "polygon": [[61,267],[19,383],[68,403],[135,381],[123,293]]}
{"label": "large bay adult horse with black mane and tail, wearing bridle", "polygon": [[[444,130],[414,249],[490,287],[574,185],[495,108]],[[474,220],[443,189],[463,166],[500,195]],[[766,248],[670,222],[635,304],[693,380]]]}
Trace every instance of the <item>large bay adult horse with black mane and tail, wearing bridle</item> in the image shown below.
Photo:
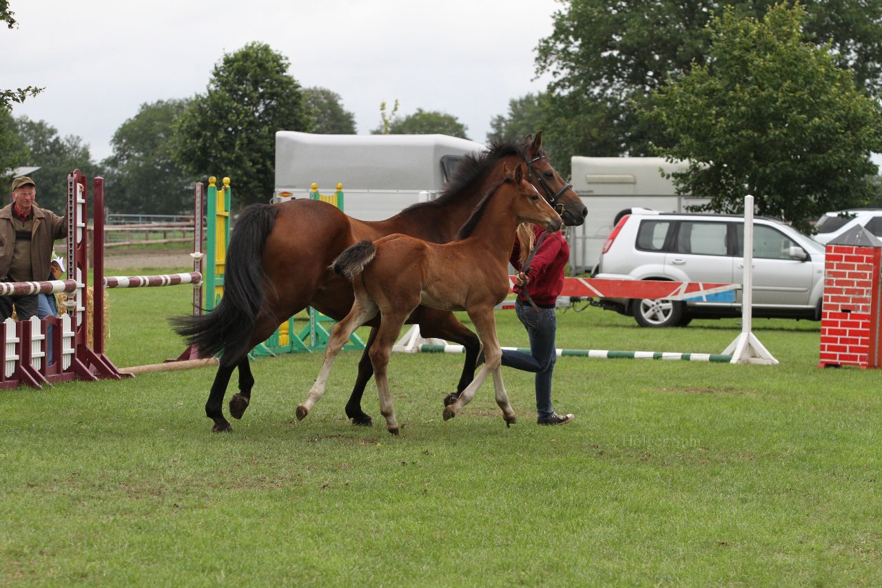
{"label": "large bay adult horse with black mane and tail, wearing bridle", "polygon": [[[213,431],[232,430],[223,415],[223,398],[235,368],[239,391],[229,401],[229,413],[242,418],[254,386],[248,352],[265,341],[279,324],[307,306],[334,320],[348,314],[354,300],[352,286],[329,269],[344,249],[361,240],[375,241],[394,233],[427,242],[452,241],[488,188],[502,179],[503,167],[511,169],[521,163],[529,170],[527,180],[558,207],[564,222],[584,222],[585,205],[542,152],[541,131],[522,143],[505,142],[465,156],[436,200],[412,205],[386,220],[356,220],[333,205],[309,199],[247,207],[236,221],[228,245],[221,302],[205,315],[171,319],[176,332],[197,346],[201,354],[222,352],[206,401]],[[465,347],[457,392],[464,390],[473,379],[480,351],[475,334],[446,310],[420,307],[407,322],[419,324],[423,337],[446,339]],[[347,416],[359,425],[371,423],[361,401],[373,375],[369,352],[379,318],[367,324],[372,327],[370,336],[346,406]]]}

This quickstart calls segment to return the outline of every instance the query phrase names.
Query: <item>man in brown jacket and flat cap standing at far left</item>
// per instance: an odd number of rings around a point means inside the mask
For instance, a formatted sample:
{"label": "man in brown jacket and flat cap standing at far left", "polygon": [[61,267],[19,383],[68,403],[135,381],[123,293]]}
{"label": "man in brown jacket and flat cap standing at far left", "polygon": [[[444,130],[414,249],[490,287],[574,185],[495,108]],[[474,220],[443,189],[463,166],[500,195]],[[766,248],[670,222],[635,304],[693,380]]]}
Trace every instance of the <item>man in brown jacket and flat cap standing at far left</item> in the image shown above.
{"label": "man in brown jacket and flat cap standing at far left", "polygon": [[[0,209],[0,280],[43,281],[49,277],[52,245],[67,235],[67,219],[34,205],[37,185],[23,175],[12,180],[12,203]],[[0,321],[37,314],[37,295],[0,296]]]}

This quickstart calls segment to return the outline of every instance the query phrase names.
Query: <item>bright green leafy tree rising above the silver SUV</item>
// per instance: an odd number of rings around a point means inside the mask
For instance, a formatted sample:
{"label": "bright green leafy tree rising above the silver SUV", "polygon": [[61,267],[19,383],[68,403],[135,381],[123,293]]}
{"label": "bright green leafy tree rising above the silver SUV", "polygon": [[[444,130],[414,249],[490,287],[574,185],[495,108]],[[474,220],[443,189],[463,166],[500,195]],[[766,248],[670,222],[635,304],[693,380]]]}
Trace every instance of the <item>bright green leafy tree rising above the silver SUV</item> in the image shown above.
{"label": "bright green leafy tree rising above the silver SUV", "polygon": [[712,198],[699,210],[742,212],[752,194],[759,214],[807,230],[874,193],[882,111],[830,48],[802,40],[806,16],[785,4],[761,21],[725,10],[708,29],[707,63],[652,95],[644,114],[672,143],[658,153],[690,161],[670,175],[677,191]]}

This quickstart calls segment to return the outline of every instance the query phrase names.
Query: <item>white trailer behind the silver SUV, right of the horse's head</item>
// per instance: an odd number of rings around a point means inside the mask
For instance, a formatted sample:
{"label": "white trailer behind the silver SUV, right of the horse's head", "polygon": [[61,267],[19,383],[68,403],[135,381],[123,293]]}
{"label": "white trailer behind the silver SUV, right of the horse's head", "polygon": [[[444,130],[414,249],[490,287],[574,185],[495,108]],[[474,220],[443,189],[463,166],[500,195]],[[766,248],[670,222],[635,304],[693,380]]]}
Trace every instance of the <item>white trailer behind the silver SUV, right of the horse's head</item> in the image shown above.
{"label": "white trailer behind the silver SUV, right of the horse's head", "polygon": [[662,171],[669,174],[684,170],[684,162],[669,163],[661,157],[579,155],[572,156],[570,161],[572,188],[588,209],[585,224],[571,229],[573,273],[591,271],[620,212],[632,208],[689,212],[689,206],[707,202],[707,198],[677,195],[673,182],[662,177]]}

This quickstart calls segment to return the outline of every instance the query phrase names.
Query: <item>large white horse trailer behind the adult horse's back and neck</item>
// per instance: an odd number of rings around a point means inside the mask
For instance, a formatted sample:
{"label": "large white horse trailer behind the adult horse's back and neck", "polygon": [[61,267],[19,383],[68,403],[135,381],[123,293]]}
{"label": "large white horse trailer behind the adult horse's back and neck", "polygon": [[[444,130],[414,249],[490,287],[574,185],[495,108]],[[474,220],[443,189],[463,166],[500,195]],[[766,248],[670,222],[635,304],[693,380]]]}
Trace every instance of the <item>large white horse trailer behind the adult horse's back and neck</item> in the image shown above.
{"label": "large white horse trailer behind the adult horse's back and neck", "polygon": [[333,194],[343,184],[344,211],[384,220],[444,190],[453,167],[486,147],[447,135],[314,135],[276,132],[273,202],[309,197],[310,185]]}

